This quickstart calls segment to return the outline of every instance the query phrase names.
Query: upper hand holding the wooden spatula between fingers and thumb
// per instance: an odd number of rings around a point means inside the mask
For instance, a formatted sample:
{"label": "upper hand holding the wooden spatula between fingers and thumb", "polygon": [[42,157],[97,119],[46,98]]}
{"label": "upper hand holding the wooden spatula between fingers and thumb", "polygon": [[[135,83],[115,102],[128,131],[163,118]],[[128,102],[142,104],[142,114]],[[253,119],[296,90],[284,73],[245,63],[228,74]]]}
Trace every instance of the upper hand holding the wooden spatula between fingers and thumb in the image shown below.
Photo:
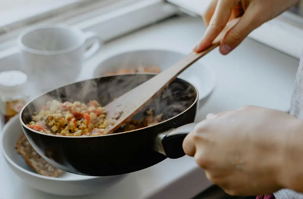
{"label": "upper hand holding the wooden spatula between fingers and thumb", "polygon": [[227,55],[245,39],[250,32],[275,18],[298,0],[212,0],[202,14],[207,29],[202,41],[195,47],[201,52],[211,46],[228,21],[242,16],[222,40],[220,52]]}

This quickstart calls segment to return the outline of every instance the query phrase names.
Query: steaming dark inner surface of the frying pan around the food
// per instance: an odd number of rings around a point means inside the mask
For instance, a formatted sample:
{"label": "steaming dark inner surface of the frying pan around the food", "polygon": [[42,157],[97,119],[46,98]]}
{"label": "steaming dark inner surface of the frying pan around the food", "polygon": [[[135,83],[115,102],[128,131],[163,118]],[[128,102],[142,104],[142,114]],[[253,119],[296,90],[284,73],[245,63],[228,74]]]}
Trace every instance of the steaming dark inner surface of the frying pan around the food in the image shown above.
{"label": "steaming dark inner surface of the frying pan around the food", "polygon": [[[25,113],[33,115],[35,112],[40,111],[47,101],[51,100],[58,100],[60,102],[80,101],[83,103],[97,100],[101,106],[105,106],[154,75],[113,75],[63,86],[35,99],[29,104],[27,107],[28,111],[25,111]],[[148,110],[152,110],[154,116],[162,113],[162,121],[183,112],[194,102],[194,96],[196,95],[193,86],[190,85],[186,88],[184,86],[185,84],[174,81],[162,93],[155,96],[151,103],[134,116],[133,119],[141,120],[143,117],[148,116],[146,113]],[[133,97],[135,98],[136,96]],[[25,117],[30,118],[29,115]],[[28,123],[29,121],[25,122]]]}

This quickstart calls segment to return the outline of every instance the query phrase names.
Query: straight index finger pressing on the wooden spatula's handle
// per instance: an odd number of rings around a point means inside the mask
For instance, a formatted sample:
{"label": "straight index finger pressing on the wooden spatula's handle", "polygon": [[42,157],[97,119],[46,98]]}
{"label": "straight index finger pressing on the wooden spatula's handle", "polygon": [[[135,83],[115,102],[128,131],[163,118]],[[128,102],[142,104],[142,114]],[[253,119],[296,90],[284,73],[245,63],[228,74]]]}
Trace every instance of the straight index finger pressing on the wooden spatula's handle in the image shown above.
{"label": "straight index finger pressing on the wooden spatula's handle", "polygon": [[238,0],[218,0],[218,4],[215,8],[215,13],[211,17],[208,28],[204,34],[204,38],[195,47],[195,52],[201,52],[211,46],[212,42],[226,26],[231,16],[231,11],[237,5],[237,3]]}

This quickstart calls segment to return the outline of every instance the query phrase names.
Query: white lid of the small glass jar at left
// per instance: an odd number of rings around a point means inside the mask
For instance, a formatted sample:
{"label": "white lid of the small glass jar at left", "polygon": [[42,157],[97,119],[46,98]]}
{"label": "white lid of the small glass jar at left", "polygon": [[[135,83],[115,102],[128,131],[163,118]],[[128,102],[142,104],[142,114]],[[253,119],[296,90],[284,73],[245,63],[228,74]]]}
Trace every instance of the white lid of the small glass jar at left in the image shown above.
{"label": "white lid of the small glass jar at left", "polygon": [[27,75],[18,70],[8,70],[0,73],[0,91],[18,92],[25,89]]}

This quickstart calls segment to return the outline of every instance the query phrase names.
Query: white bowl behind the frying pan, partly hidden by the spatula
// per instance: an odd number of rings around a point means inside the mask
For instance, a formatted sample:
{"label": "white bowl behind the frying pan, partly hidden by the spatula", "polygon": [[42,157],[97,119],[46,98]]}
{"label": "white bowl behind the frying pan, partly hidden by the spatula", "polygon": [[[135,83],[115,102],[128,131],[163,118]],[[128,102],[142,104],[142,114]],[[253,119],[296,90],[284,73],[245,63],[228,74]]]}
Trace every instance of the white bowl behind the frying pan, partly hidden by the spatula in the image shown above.
{"label": "white bowl behind the frying pan, partly hidden by the spatula", "polygon": [[[94,78],[118,69],[137,69],[140,66],[158,66],[161,71],[169,68],[186,55],[180,52],[163,49],[141,49],[122,52],[105,59],[95,69]],[[178,78],[195,85],[199,92],[199,106],[207,102],[216,86],[216,73],[210,67],[198,61],[183,71]]]}

